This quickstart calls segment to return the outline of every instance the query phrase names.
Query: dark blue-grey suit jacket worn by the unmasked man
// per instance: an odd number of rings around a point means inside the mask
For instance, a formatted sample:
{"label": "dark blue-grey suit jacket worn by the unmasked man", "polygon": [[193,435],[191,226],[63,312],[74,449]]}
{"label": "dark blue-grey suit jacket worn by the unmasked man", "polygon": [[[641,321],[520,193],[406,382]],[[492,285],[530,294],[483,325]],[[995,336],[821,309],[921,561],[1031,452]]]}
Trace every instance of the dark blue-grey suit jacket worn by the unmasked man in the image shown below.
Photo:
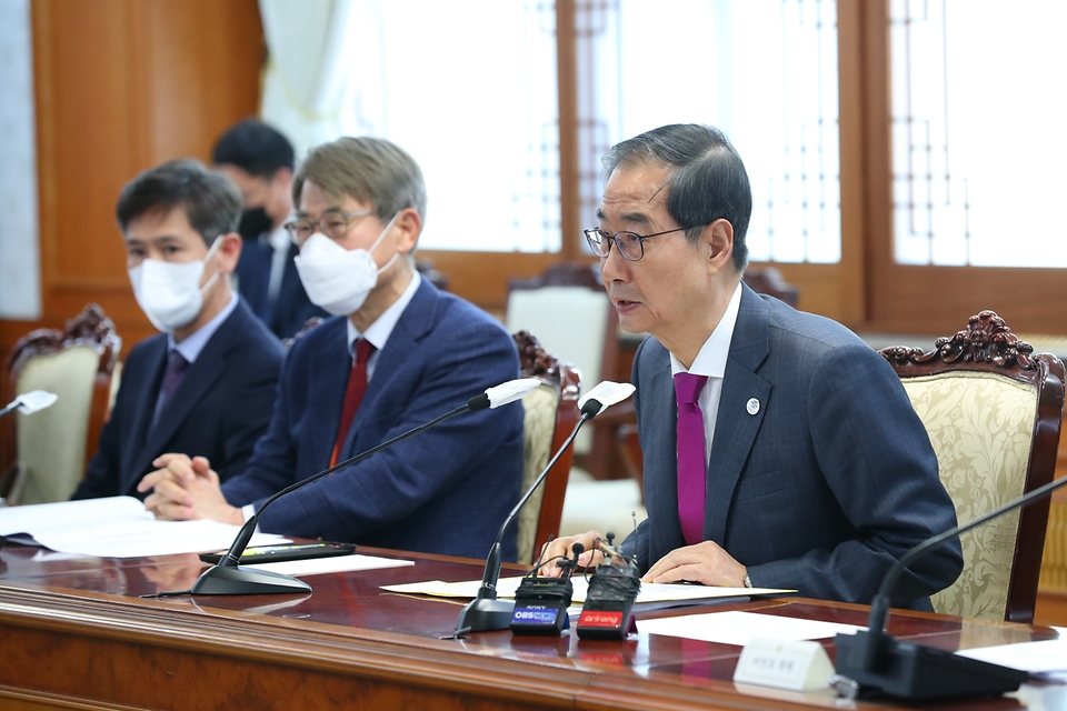
{"label": "dark blue-grey suit jacket worn by the unmasked man", "polygon": [[[645,571],[685,545],[670,358],[656,339],[637,351],[634,384],[648,519],[624,548]],[[744,287],[704,539],[747,565],[756,587],[869,603],[904,552],[954,525],[929,437],[885,359],[845,327]],[[961,568],[957,539],[905,572],[894,604],[929,609]]]}

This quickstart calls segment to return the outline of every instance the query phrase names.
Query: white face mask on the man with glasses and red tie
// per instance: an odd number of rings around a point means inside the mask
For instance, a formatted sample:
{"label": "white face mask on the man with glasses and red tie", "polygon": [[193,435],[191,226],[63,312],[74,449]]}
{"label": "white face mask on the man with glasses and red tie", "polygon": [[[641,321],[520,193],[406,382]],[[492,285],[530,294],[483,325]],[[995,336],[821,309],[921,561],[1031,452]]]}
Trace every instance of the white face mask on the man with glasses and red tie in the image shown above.
{"label": "white face mask on the man with glasses and red tie", "polygon": [[393,254],[381,269],[371,257],[398,217],[399,212],[392,216],[369,250],[347,250],[321,232],[309,237],[293,261],[311,303],[333,316],[359,311],[378,284],[378,274],[389,269],[400,256],[400,252]]}

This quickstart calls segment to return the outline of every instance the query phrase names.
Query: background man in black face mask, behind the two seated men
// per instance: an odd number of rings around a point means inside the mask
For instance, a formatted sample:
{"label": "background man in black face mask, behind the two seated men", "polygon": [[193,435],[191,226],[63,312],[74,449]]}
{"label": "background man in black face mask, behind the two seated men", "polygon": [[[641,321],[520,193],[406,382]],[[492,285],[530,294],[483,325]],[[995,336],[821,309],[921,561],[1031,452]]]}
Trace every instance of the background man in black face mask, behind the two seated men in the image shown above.
{"label": "background man in black face mask, behind the two seated men", "polygon": [[293,263],[297,247],[283,227],[292,216],[292,144],[262,121],[246,119],[219,138],[211,160],[245,201],[237,288],[275,336],[291,338],[308,319],[328,316],[308,299]]}

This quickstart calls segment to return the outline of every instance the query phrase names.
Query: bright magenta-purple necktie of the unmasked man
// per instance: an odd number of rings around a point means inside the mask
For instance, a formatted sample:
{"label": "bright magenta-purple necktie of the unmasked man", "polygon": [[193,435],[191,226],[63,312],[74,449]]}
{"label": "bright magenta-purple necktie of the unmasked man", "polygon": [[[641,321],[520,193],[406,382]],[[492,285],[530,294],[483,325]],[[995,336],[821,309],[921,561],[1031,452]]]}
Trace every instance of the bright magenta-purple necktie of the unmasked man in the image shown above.
{"label": "bright magenta-purple necktie of the unmasked man", "polygon": [[678,520],[686,543],[704,540],[704,502],[707,459],[704,451],[704,413],[697,399],[707,375],[675,373],[678,399]]}

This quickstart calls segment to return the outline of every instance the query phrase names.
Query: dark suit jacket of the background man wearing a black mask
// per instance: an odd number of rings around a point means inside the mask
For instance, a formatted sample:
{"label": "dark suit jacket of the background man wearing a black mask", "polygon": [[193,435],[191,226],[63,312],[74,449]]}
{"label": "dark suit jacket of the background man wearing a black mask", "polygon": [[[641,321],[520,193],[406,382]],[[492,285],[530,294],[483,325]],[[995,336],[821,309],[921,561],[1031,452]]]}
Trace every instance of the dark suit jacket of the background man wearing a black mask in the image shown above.
{"label": "dark suit jacket of the background man wearing a black mask", "polygon": [[270,266],[275,259],[275,248],[259,240],[246,240],[241,259],[237,262],[237,283],[241,296],[248,301],[256,316],[262,319],[267,328],[280,339],[291,338],[311,317],[329,316],[311,303],[308,292],[303,290],[297,264],[292,261],[299,251],[296,244],[289,246],[281,288],[273,308],[267,299],[267,291],[270,286]]}

